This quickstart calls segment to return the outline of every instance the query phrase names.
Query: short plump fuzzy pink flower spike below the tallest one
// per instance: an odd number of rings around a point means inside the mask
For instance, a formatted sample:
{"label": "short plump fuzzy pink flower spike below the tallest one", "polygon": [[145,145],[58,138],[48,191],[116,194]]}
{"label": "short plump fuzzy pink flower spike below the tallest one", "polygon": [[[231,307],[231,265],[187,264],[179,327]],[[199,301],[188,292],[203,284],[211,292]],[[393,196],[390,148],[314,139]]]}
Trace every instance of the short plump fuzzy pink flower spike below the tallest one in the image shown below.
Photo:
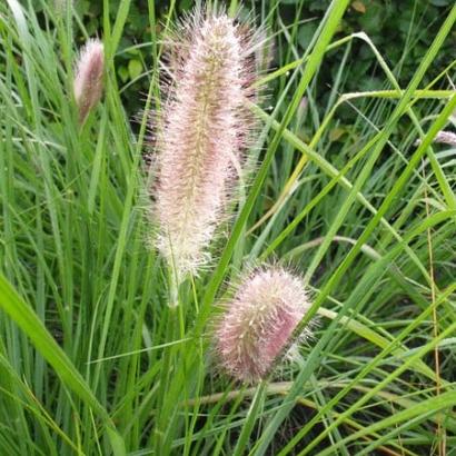
{"label": "short plump fuzzy pink flower spike below the tallest one", "polygon": [[[240,284],[216,327],[222,367],[240,381],[265,378],[293,346],[291,336],[309,308],[299,276],[279,267],[254,271]],[[307,326],[298,338],[310,334]]]}

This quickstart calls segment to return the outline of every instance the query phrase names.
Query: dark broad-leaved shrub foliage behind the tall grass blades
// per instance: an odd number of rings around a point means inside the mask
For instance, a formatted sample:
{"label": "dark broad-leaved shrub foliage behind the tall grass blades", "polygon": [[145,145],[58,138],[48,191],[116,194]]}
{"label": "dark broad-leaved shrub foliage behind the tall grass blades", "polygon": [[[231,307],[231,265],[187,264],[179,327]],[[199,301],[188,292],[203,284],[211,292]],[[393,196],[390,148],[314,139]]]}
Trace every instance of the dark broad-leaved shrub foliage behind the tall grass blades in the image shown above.
{"label": "dark broad-leaved shrub foliage behind the tall grass blades", "polygon": [[[110,0],[112,21],[115,20],[119,3],[120,0]],[[297,51],[303,53],[330,1],[245,1],[244,9],[246,11],[254,11],[257,21],[260,22],[261,17],[269,12],[265,6],[267,4],[267,8],[270,10],[275,9],[276,3],[278,3],[276,13],[268,22],[269,33],[280,30],[278,28],[278,16],[285,26],[291,24],[298,13],[301,20],[310,19],[298,26],[294,39]],[[300,7],[301,3],[303,6]],[[192,4],[192,0],[178,0],[176,13],[179,14],[190,10]],[[336,39],[353,32],[365,31],[378,47],[389,67],[394,69],[396,78],[398,78],[404,87],[412,78],[420,59],[445,20],[450,4],[453,4],[453,0],[355,0],[350,3],[350,8],[344,17]],[[75,8],[82,18],[89,36],[101,36],[102,1],[75,0]],[[156,0],[155,8],[158,19],[157,23],[163,23],[169,1]],[[156,30],[158,37],[160,36],[160,30],[161,26],[158,26]],[[150,69],[152,65],[151,48],[146,46],[140,49],[130,49],[127,52],[122,52],[122,50],[138,43],[150,42],[150,40],[148,1],[132,0],[119,53],[116,58],[119,86],[125,89],[122,92],[125,107],[131,116],[135,116],[142,108],[143,97],[140,95],[147,92],[149,85],[149,77],[145,75],[145,71]],[[80,33],[78,46],[82,44],[83,41],[85,38]],[[425,82],[429,82],[434,76],[438,75],[454,59],[455,43],[456,31],[453,31],[452,36],[446,40],[445,47],[439,52],[435,67],[426,75]],[[279,67],[294,59],[289,52],[290,47],[285,41],[282,33],[276,39],[275,49],[274,67]],[[325,59],[318,78],[318,85],[321,86],[323,93],[325,92],[325,87],[331,85],[341,59],[341,50],[329,52]],[[385,86],[385,77],[378,68],[371,51],[359,40],[354,41],[347,67],[344,72],[344,91],[388,88]],[[140,77],[141,75],[143,76]],[[137,79],[138,77],[139,79]],[[341,115],[344,116],[344,111],[341,111]],[[346,121],[349,122],[350,117],[355,116],[355,113],[347,111],[345,116],[348,116]]]}

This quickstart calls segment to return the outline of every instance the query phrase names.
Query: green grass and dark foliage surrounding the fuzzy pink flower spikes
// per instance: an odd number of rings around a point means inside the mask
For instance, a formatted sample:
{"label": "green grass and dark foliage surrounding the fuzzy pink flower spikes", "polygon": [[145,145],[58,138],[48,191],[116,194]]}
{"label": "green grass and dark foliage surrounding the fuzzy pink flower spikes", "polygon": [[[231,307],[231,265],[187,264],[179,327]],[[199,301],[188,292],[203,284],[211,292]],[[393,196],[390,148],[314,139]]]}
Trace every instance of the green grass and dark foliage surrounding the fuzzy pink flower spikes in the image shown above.
{"label": "green grass and dark foliage surrounding the fuzzy pink flower spikes", "polygon": [[[0,4],[1,454],[450,455],[456,149],[432,139],[455,122],[453,2],[244,3],[274,42],[258,169],[177,310],[145,246],[142,111],[192,2],[59,4]],[[95,34],[106,91],[79,128],[72,65]],[[319,326],[246,388],[207,323],[274,259]]]}

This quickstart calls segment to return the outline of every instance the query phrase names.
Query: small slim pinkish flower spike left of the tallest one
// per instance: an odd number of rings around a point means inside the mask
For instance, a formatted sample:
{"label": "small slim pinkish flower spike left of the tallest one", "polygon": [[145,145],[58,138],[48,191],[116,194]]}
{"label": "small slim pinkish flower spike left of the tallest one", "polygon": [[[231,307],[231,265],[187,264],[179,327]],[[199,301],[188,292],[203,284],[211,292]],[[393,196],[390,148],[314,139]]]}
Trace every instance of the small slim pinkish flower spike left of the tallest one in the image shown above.
{"label": "small slim pinkish flower spike left of the tallest one", "polygon": [[90,110],[101,98],[103,70],[103,44],[98,39],[89,40],[81,49],[75,68],[73,90],[80,123],[83,123]]}

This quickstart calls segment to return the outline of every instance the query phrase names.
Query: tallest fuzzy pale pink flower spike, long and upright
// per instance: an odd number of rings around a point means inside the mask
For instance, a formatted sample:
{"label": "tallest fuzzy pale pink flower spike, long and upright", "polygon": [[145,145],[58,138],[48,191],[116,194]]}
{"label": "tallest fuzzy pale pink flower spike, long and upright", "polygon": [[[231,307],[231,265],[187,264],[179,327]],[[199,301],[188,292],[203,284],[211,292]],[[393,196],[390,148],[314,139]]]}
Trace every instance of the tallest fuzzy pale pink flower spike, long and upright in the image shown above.
{"label": "tallest fuzzy pale pink flower spike, long and upright", "polygon": [[225,13],[196,12],[171,41],[168,99],[156,125],[151,194],[157,247],[180,282],[209,259],[234,194],[252,119],[254,33]]}

